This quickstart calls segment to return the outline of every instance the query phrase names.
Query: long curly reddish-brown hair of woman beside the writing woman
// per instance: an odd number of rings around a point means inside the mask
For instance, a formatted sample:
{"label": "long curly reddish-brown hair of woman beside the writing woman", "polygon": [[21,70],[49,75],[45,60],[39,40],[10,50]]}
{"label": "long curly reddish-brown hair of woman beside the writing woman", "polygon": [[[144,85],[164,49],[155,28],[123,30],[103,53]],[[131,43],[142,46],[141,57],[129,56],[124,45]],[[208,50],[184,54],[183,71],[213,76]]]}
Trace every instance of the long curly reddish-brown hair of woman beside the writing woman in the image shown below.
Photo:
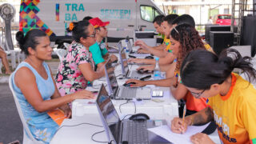
{"label": "long curly reddish-brown hair of woman beside the writing woman", "polygon": [[199,36],[198,31],[194,29],[194,26],[188,24],[181,24],[173,28],[170,32],[170,37],[180,43],[180,53],[177,58],[177,71],[180,70],[182,62],[186,55],[192,50],[205,50],[205,46],[202,43],[202,38]]}

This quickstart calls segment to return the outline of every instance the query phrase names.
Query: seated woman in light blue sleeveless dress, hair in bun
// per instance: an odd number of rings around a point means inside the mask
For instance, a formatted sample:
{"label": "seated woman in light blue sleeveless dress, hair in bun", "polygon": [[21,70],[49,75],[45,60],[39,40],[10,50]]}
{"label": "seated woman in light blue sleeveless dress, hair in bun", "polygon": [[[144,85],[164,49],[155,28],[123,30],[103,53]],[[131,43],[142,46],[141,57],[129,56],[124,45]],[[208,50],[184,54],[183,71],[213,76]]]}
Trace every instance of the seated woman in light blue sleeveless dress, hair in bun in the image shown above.
{"label": "seated woman in light blue sleeveless dress, hair in bun", "polygon": [[59,108],[70,118],[71,110],[67,103],[74,99],[94,98],[94,94],[81,90],[61,97],[45,62],[51,59],[53,51],[45,32],[30,30],[24,37],[19,31],[16,39],[26,59],[11,75],[14,93],[31,134],[38,141],[49,143],[58,130],[58,124],[47,114],[48,110]]}

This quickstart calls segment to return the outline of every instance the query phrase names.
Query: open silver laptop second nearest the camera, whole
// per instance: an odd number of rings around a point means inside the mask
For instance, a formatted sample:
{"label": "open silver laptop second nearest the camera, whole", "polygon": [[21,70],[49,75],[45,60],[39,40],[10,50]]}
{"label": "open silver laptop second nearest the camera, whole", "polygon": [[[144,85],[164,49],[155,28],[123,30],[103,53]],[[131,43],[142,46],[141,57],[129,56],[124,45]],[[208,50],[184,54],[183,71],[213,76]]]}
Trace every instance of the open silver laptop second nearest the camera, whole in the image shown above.
{"label": "open silver laptop second nearest the camera, whole", "polygon": [[130,86],[118,86],[117,78],[114,75],[114,70],[110,60],[104,65],[106,74],[106,83],[109,88],[109,94],[111,98],[119,100],[136,99],[151,99],[150,87],[130,87]]}

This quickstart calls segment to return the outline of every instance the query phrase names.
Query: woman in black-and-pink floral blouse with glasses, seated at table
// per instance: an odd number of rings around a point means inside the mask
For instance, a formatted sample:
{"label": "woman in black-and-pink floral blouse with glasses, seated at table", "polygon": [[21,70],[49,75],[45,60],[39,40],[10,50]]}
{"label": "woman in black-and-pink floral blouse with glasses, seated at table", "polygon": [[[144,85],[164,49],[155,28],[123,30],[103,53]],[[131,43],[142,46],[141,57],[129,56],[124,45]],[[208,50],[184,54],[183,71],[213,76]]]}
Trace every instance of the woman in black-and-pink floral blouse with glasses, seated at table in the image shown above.
{"label": "woman in black-and-pink floral blouse with glasses, seated at table", "polygon": [[104,66],[94,70],[94,60],[89,51],[89,47],[96,42],[94,26],[88,21],[71,22],[68,30],[72,32],[74,41],[58,66],[56,75],[56,84],[62,96],[85,90],[88,82],[105,75]]}

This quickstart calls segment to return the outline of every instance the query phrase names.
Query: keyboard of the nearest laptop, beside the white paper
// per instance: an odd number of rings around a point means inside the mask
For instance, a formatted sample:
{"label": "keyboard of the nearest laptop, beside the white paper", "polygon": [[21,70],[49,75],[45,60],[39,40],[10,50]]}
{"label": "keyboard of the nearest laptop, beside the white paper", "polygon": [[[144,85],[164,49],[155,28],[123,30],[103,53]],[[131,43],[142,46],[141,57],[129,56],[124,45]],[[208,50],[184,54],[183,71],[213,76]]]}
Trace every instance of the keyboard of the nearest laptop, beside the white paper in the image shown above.
{"label": "keyboard of the nearest laptop, beside the white paper", "polygon": [[128,142],[133,144],[148,144],[146,121],[128,121]]}

